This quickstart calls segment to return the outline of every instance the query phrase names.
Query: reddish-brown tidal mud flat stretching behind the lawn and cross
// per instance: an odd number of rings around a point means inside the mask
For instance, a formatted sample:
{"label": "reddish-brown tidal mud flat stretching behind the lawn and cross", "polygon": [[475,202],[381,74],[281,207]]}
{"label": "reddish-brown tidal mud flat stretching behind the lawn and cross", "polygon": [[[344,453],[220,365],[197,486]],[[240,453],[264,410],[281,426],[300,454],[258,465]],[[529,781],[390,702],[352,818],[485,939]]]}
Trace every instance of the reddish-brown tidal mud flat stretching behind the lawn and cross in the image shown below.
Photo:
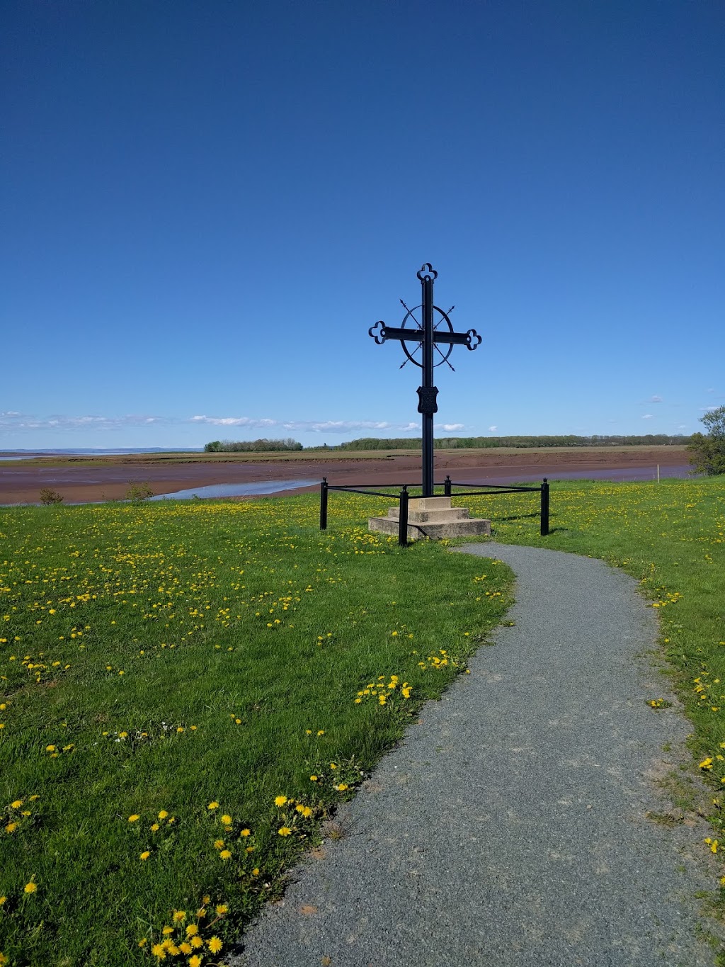
{"label": "reddish-brown tidal mud flat stretching behind the lawn and cross", "polygon": [[[1,459],[1,457],[0,457]],[[68,458],[44,460],[43,466],[23,465],[18,460],[0,466],[0,505],[34,504],[43,487],[56,490],[68,504],[122,500],[131,482],[149,484],[155,494],[211,484],[256,484],[290,481],[291,492],[298,480],[322,480],[330,484],[420,484],[420,454],[364,456],[358,459],[329,457],[271,457],[253,463],[242,461],[206,462],[198,457],[188,462],[157,462],[149,456],[69,465]],[[684,447],[629,447],[623,449],[476,450],[440,451],[436,454],[436,481],[449,474],[454,483],[506,484],[512,481],[559,479],[652,480],[657,465],[662,476],[685,476],[687,451]],[[305,487],[295,492],[311,491]],[[242,498],[246,499],[246,498]]]}

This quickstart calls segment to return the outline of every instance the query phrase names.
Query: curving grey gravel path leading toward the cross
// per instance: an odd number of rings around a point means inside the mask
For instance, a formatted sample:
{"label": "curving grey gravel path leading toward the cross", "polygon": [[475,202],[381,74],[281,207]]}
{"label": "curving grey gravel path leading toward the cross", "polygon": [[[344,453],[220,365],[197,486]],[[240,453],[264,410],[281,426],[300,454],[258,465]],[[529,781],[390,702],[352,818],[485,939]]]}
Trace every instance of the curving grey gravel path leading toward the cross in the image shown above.
{"label": "curving grey gravel path leading toward the cross", "polygon": [[[496,543],[516,603],[343,807],[239,967],[695,967],[705,829],[645,818],[687,722],[643,656],[651,609],[600,561]],[[689,851],[697,853],[697,862]]]}

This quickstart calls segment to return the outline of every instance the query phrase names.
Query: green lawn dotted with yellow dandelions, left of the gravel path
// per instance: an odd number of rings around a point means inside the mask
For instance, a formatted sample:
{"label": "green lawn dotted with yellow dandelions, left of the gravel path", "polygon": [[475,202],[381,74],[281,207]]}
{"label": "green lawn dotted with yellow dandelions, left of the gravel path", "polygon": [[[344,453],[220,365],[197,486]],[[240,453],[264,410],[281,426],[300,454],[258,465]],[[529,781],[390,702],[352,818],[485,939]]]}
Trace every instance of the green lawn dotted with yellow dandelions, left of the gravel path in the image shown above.
{"label": "green lawn dotted with yellow dandelions, left of the gravel path", "polygon": [[164,925],[165,962],[223,959],[420,702],[465,671],[510,571],[401,550],[362,526],[379,510],[334,494],[326,533],[314,496],[0,512],[11,963],[153,964]]}

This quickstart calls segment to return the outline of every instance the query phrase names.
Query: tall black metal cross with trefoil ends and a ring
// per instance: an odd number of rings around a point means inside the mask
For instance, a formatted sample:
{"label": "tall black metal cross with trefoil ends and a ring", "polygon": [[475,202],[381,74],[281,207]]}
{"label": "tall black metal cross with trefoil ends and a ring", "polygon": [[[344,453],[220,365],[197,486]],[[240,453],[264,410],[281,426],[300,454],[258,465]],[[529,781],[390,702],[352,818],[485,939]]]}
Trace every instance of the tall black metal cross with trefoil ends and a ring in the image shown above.
{"label": "tall black metal cross with trefoil ends and a ring", "polygon": [[[454,345],[466,346],[468,349],[476,349],[480,344],[480,337],[475,329],[469,329],[467,333],[454,333],[450,323],[449,312],[455,307],[451,306],[448,312],[444,312],[433,304],[433,282],[438,277],[438,273],[433,270],[429,262],[426,262],[418,273],[422,288],[422,302],[420,306],[409,309],[403,300],[400,302],[407,314],[403,318],[403,325],[399,328],[386,326],[381,320],[371,326],[368,333],[375,339],[378,345],[382,345],[386,339],[398,339],[403,347],[407,359],[402,366],[409,361],[416,366],[420,366],[423,371],[422,386],[418,388],[418,412],[422,414],[422,495],[423,497],[433,496],[433,414],[438,412],[436,396],[438,390],[433,386],[433,369],[442,363],[448,363],[449,355]],[[415,313],[418,309],[422,310],[422,322],[419,322]],[[434,314],[438,313],[437,321],[434,322]],[[418,329],[406,329],[406,322],[411,319]],[[442,323],[448,327],[439,329]],[[407,342],[417,342],[414,349],[406,346]],[[439,345],[448,346],[446,352],[439,349]],[[422,349],[422,360],[419,362],[414,357]],[[441,357],[437,363],[434,360],[434,351]],[[402,369],[402,366],[400,367]],[[450,364],[449,364],[450,366]],[[450,366],[452,369],[453,367]]]}

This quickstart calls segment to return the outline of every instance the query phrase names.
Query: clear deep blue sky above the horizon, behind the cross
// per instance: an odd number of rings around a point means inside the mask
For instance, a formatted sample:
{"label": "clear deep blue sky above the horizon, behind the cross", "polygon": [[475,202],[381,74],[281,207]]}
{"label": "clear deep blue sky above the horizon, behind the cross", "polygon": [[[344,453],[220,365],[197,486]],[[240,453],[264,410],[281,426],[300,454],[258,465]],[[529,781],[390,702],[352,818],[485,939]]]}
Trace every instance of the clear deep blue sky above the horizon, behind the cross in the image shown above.
{"label": "clear deep blue sky above the horizon, behind the cross", "polygon": [[368,328],[482,336],[436,433],[725,402],[719,0],[8,0],[0,447],[420,432]]}

